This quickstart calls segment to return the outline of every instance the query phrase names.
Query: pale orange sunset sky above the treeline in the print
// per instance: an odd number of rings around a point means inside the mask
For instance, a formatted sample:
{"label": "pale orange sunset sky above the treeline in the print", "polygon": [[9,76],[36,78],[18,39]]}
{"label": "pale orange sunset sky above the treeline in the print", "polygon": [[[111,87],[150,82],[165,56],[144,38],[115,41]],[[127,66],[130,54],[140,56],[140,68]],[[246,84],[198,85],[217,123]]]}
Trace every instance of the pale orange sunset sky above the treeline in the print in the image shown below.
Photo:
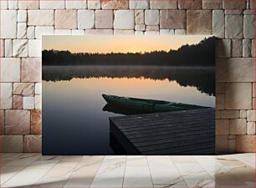
{"label": "pale orange sunset sky above the treeline in the print", "polygon": [[136,53],[169,51],[185,44],[199,43],[208,36],[44,36],[43,50],[69,50],[71,53]]}

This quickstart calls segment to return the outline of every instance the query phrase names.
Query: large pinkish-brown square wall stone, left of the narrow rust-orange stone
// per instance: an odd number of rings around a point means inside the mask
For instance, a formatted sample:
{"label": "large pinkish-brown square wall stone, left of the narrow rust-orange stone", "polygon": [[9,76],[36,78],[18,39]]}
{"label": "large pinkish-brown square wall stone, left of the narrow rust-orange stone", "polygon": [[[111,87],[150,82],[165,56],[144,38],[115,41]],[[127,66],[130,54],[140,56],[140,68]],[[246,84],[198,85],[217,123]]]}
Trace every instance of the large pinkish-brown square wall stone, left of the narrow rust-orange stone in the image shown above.
{"label": "large pinkish-brown square wall stone, left of the narrow rust-orange stone", "polygon": [[5,133],[7,135],[28,135],[30,133],[30,112],[28,110],[7,110],[5,112]]}

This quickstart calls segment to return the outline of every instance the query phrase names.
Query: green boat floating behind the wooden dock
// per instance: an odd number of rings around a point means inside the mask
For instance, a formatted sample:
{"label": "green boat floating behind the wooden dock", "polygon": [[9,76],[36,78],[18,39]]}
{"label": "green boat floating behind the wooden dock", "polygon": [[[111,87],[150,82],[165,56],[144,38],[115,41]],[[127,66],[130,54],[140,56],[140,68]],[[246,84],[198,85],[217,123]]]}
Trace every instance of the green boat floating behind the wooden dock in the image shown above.
{"label": "green boat floating behind the wooden dock", "polygon": [[120,97],[110,94],[102,94],[102,97],[108,104],[146,113],[208,108],[205,106],[199,106],[194,104],[173,103],[164,100],[154,99],[136,99],[130,97]]}

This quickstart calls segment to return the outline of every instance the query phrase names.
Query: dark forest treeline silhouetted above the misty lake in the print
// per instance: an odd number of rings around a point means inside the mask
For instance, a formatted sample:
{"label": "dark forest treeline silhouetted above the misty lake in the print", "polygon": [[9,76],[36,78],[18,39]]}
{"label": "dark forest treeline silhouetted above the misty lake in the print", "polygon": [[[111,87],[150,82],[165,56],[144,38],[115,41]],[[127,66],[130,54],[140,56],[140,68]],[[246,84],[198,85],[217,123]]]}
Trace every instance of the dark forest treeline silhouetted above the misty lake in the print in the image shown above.
{"label": "dark forest treeline silhouetted above the misty lake in the print", "polygon": [[[86,43],[84,44],[86,45]],[[148,53],[70,53],[44,50],[43,65],[154,65],[154,66],[215,66],[215,39],[183,45],[177,50]]]}

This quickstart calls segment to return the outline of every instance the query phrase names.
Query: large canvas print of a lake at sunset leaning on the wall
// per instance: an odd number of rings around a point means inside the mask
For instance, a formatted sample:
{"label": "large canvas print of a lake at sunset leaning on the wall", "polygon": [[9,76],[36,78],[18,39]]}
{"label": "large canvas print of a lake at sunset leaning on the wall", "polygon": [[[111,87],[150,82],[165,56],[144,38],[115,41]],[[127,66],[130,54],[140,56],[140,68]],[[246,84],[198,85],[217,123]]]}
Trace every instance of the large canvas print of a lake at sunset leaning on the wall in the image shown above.
{"label": "large canvas print of a lake at sunset leaning on the wall", "polygon": [[44,36],[44,155],[212,155],[211,36]]}

